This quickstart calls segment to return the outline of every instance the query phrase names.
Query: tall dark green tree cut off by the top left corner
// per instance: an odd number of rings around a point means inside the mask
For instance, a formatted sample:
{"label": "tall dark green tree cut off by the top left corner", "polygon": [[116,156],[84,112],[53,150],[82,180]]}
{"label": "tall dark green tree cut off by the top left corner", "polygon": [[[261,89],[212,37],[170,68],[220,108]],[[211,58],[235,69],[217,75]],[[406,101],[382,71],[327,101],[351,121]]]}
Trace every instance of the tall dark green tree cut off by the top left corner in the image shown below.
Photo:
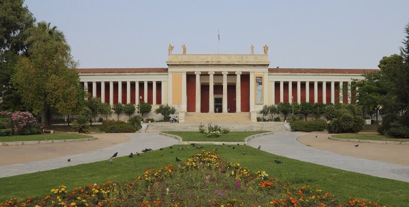
{"label": "tall dark green tree cut off by the top left corner", "polygon": [[0,1],[0,110],[32,111],[11,84],[19,56],[27,56],[27,29],[36,19],[23,0]]}

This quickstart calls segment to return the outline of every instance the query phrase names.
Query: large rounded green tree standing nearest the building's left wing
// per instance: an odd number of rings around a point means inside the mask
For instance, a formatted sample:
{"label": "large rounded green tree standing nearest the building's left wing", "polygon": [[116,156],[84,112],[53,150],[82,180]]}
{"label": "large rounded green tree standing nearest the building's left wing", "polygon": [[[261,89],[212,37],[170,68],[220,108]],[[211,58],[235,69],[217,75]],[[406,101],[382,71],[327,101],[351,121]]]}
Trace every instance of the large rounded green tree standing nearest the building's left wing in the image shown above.
{"label": "large rounded green tree standing nearest the building's left wing", "polygon": [[56,38],[50,33],[49,25],[39,22],[28,31],[29,57],[19,57],[16,74],[11,79],[24,105],[34,113],[41,111],[41,122],[48,125],[51,124],[51,109],[67,114],[75,111],[84,100],[70,47],[65,38]]}

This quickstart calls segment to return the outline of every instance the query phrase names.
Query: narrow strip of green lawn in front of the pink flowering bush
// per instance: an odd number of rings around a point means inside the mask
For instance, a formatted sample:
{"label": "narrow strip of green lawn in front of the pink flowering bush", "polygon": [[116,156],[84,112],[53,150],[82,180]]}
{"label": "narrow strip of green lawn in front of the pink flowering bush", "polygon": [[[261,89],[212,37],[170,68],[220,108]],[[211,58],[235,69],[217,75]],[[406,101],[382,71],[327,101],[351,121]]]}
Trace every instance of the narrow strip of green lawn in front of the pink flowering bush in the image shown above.
{"label": "narrow strip of green lawn in front of the pink flowering bush", "polygon": [[12,136],[0,136],[0,142],[15,142],[15,141],[42,141],[42,140],[56,140],[56,139],[80,139],[90,138],[93,136],[82,134],[31,134],[31,135],[12,135]]}

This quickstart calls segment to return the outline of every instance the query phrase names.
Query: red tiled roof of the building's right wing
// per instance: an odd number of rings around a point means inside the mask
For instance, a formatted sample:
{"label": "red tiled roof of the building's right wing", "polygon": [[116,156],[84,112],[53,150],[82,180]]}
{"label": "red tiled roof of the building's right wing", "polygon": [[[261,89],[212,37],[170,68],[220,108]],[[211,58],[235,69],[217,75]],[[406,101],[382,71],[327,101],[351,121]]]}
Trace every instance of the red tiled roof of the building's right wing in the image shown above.
{"label": "red tiled roof of the building's right wing", "polygon": [[268,73],[278,74],[363,74],[379,69],[331,69],[331,68],[269,68]]}

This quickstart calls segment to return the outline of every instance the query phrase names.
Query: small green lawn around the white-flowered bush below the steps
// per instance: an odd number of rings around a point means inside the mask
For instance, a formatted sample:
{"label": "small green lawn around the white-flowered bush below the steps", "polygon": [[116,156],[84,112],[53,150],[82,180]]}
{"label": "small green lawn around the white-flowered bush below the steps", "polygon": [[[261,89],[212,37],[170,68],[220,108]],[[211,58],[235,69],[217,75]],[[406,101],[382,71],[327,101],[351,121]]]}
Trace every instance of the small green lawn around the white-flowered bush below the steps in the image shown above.
{"label": "small green lawn around the white-flowered bush below the steps", "polygon": [[266,131],[254,131],[254,132],[228,132],[223,133],[222,136],[217,138],[206,137],[206,134],[201,132],[164,132],[169,134],[175,134],[182,137],[182,141],[208,141],[208,142],[244,142],[244,139],[248,136],[258,133],[264,133]]}

